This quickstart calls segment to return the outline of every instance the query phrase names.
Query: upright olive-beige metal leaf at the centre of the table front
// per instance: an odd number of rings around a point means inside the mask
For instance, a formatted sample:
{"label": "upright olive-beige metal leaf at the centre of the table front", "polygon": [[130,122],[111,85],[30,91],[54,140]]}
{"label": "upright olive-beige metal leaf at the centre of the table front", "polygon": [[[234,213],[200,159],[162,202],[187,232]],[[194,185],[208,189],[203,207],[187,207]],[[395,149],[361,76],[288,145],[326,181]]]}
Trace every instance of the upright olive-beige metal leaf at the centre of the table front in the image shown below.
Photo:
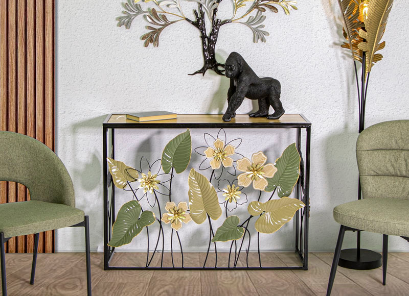
{"label": "upright olive-beige metal leaf at the centre of the table front", "polygon": [[209,180],[192,168],[189,174],[189,208],[190,216],[197,224],[202,224],[207,215],[217,220],[221,208],[216,190]]}

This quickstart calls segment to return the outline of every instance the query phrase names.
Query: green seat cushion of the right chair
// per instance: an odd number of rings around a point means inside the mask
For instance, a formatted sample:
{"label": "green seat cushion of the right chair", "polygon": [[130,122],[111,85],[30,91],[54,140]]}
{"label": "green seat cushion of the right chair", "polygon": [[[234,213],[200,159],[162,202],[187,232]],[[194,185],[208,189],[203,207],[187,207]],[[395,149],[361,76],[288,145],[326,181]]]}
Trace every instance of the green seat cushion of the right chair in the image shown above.
{"label": "green seat cushion of the right chair", "polygon": [[409,201],[363,199],[336,206],[337,223],[359,230],[409,236]]}

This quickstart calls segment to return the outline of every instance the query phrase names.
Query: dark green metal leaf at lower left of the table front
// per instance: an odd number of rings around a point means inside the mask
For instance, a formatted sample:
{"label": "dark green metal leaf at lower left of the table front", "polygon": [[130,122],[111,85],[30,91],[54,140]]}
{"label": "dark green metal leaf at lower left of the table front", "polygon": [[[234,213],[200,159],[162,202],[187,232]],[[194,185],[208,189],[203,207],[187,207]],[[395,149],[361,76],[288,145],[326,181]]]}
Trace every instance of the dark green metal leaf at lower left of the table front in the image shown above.
{"label": "dark green metal leaf at lower left of the table front", "polygon": [[154,223],[155,214],[151,211],[144,211],[141,214],[141,210],[138,201],[127,202],[121,207],[112,226],[112,238],[108,245],[121,246],[130,243],[145,226]]}

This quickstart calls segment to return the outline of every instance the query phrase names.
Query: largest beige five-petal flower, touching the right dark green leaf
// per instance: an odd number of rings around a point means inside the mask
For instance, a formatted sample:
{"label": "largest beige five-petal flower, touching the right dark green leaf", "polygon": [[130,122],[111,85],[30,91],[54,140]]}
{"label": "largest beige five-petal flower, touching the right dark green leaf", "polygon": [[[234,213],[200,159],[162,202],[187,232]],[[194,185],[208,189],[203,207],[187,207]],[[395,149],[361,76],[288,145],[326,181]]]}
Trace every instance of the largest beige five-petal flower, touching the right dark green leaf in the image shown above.
{"label": "largest beige five-petal flower, touching the right dark green leaf", "polygon": [[252,162],[244,157],[237,161],[237,169],[243,171],[237,177],[238,185],[248,187],[253,182],[253,188],[264,190],[268,185],[265,178],[272,178],[276,174],[277,167],[274,164],[267,163],[267,157],[261,151],[253,154]]}

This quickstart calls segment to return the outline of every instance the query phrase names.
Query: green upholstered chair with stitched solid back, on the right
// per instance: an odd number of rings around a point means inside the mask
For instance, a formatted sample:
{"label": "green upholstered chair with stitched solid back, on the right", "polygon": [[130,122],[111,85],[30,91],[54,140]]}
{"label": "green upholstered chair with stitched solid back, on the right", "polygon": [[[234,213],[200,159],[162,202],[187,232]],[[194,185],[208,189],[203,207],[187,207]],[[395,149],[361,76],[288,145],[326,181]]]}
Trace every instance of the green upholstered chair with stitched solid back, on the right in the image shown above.
{"label": "green upholstered chair with stitched solid back, on the right", "polygon": [[409,120],[381,122],[362,131],[356,142],[362,199],[336,206],[339,235],[327,295],[330,295],[344,233],[363,230],[383,234],[383,285],[388,235],[409,241]]}

